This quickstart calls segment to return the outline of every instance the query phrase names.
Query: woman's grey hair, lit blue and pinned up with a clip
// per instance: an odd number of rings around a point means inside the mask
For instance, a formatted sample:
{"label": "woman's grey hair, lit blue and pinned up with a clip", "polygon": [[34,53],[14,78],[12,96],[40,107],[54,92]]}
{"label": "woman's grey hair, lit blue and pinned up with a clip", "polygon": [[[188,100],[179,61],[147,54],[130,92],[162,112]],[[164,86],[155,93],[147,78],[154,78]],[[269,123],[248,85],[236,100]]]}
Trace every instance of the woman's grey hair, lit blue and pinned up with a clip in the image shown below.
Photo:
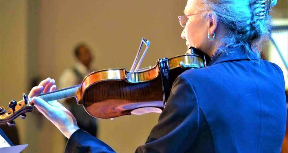
{"label": "woman's grey hair, lit blue and pinned up with a clip", "polygon": [[222,43],[220,50],[229,45],[241,44],[245,48],[245,53],[249,55],[258,51],[262,42],[269,38],[271,17],[268,13],[271,0],[198,0],[198,2],[206,11],[213,11],[218,22],[227,29],[227,34],[221,40],[225,43]]}

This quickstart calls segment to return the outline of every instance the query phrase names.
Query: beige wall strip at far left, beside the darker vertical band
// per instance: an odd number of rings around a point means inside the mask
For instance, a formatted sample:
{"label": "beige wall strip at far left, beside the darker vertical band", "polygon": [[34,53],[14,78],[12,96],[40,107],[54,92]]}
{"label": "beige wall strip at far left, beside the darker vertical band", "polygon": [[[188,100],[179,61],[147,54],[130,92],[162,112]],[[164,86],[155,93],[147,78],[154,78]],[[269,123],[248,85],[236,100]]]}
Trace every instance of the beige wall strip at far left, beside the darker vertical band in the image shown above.
{"label": "beige wall strip at far left, beside the darker vertical band", "polygon": [[[0,105],[8,108],[10,100],[20,100],[27,92],[27,5],[26,1],[2,1],[1,6],[1,55],[0,55]],[[21,142],[25,142],[25,121],[15,120],[19,126]]]}

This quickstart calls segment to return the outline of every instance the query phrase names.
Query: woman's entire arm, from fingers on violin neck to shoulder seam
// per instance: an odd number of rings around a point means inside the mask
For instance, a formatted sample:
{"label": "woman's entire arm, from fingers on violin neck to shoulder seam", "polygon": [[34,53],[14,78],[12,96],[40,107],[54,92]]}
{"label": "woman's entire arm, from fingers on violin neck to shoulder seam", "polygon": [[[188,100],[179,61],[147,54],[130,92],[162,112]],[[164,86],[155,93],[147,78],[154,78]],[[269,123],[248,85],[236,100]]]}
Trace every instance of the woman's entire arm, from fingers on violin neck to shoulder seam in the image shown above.
{"label": "woman's entire arm, from fingers on violin neck to shoulder seam", "polygon": [[[51,83],[52,82],[52,83]],[[31,93],[54,91],[55,81],[44,80]],[[41,87],[41,84],[49,84]],[[47,89],[49,88],[49,90]],[[37,95],[37,94],[31,94]],[[79,129],[74,116],[57,101],[45,102],[33,97],[36,108],[67,138],[65,152],[115,152],[111,147]],[[174,81],[165,109],[145,144],[135,152],[183,152],[191,146],[199,130],[199,107],[189,80],[180,75]]]}

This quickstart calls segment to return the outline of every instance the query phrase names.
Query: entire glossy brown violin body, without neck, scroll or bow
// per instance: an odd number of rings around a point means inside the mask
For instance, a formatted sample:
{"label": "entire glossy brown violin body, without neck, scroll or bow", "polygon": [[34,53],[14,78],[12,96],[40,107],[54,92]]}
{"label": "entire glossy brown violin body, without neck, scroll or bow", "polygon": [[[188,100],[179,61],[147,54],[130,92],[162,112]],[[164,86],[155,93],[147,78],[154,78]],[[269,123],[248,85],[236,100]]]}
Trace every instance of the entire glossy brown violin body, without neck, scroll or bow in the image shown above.
{"label": "entire glossy brown violin body, without neck, scroll or bow", "polygon": [[78,104],[96,118],[131,115],[133,110],[133,114],[161,113],[176,77],[186,69],[201,66],[201,56],[186,54],[159,59],[151,69],[135,73],[125,68],[96,71],[83,80]]}

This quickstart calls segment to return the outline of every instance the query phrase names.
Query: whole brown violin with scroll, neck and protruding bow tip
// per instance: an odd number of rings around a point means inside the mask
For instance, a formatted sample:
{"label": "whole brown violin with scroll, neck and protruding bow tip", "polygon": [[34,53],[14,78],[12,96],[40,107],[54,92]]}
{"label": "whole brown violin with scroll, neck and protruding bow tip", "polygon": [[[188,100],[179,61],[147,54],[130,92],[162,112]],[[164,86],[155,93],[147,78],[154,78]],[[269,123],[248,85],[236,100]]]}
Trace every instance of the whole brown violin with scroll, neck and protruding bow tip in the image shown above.
{"label": "whole brown violin with scroll, neck and protruding bow tip", "polygon": [[[136,66],[143,44],[146,49]],[[142,38],[130,71],[125,68],[98,70],[87,75],[81,84],[37,97],[45,101],[74,97],[95,118],[161,113],[176,77],[187,69],[206,67],[209,57],[191,47],[184,55],[158,59],[155,66],[139,69],[149,46],[150,41]],[[0,106],[0,124],[13,127],[15,118],[26,118],[25,113],[32,111],[33,103],[24,93],[22,100],[9,103],[9,109]]]}

